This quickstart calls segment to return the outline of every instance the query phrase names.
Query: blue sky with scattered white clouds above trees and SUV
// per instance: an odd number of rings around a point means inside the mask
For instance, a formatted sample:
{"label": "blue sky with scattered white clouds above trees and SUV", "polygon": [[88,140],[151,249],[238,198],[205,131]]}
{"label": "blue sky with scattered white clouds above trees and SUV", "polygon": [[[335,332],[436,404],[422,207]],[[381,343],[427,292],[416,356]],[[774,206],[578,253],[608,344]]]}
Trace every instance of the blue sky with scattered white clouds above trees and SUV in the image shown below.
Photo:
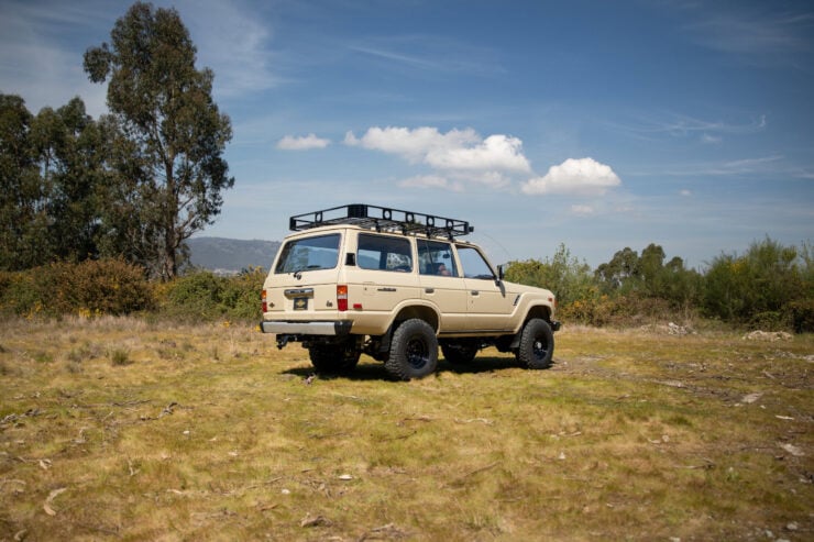
{"label": "blue sky with scattered white clouds above trees and SUV", "polygon": [[[103,113],[82,53],[130,4],[0,0],[0,91]],[[154,4],[232,120],[235,185],[202,235],[279,240],[289,214],[366,202],[469,220],[496,263],[654,242],[703,267],[814,236],[810,1]]]}

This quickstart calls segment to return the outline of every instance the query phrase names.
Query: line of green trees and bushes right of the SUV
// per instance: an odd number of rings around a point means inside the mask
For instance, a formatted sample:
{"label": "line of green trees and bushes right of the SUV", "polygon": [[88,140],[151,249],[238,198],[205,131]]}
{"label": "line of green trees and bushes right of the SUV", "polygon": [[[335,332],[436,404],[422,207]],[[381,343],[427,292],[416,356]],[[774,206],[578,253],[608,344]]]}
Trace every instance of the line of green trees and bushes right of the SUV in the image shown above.
{"label": "line of green trees and bushes right of the SUV", "polygon": [[592,269],[561,244],[553,256],[510,262],[506,278],[549,288],[560,314],[588,324],[695,317],[760,329],[814,331],[814,252],[766,237],[741,255],[722,253],[706,269],[667,259],[654,243],[617,251]]}

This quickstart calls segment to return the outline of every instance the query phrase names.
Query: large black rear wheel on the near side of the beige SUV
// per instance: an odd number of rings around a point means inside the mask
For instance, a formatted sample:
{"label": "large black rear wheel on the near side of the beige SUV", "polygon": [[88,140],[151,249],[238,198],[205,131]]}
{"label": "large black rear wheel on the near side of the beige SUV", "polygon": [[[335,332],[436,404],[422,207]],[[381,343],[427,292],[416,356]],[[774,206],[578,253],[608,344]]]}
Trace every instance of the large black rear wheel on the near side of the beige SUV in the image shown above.
{"label": "large black rear wheel on the near side of the beige SUV", "polygon": [[391,342],[391,355],[384,366],[399,380],[424,378],[435,373],[438,366],[438,339],[432,327],[414,318],[396,328]]}

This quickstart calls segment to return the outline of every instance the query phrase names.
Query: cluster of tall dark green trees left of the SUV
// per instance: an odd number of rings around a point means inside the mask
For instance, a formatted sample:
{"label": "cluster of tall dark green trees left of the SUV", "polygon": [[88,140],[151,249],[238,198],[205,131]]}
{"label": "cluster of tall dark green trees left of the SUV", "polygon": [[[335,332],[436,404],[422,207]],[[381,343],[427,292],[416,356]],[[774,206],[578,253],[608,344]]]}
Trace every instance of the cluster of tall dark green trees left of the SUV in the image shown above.
{"label": "cluster of tall dark green trees left of the SUV", "polygon": [[136,2],[110,36],[84,56],[108,84],[98,120],[79,97],[33,114],[0,93],[1,270],[118,257],[172,279],[234,184],[231,122],[178,12]]}

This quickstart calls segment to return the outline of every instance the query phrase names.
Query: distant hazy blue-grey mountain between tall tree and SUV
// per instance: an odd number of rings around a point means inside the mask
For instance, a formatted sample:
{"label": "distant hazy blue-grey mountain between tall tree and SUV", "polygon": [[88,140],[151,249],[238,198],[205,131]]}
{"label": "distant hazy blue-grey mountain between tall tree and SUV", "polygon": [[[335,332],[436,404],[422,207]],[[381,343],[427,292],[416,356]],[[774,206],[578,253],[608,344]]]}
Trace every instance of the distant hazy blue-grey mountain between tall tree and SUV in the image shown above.
{"label": "distant hazy blue-grey mountain between tall tree and SUV", "polygon": [[277,241],[223,237],[193,237],[187,240],[187,245],[194,266],[223,274],[239,273],[249,267],[268,269],[279,248]]}

